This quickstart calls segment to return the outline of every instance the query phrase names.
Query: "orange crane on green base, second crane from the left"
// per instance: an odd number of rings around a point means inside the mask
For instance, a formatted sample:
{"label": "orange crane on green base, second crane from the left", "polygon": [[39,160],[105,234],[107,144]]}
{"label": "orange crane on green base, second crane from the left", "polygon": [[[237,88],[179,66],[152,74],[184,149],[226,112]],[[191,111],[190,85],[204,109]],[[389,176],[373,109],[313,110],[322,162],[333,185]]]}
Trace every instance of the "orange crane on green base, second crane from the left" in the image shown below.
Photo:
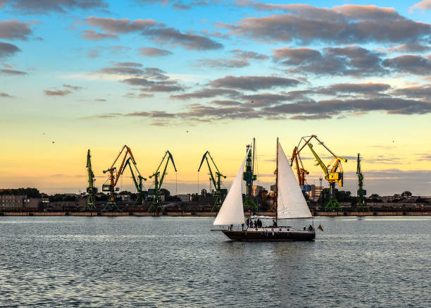
{"label": "orange crane on green base, second crane from the left", "polygon": [[[115,163],[118,161],[121,154],[123,153],[124,153],[123,161],[121,161],[120,168],[118,168],[118,171],[117,171],[117,167],[115,167]],[[102,211],[120,211],[120,209],[117,206],[117,203],[115,202],[115,192],[118,192],[120,188],[115,186],[117,185],[121,174],[123,174],[121,171],[123,171],[123,166],[125,165],[127,156],[130,156],[130,158],[132,158],[133,164],[136,165],[136,161],[135,161],[135,158],[133,157],[132,150],[130,149],[130,147],[127,147],[127,145],[124,145],[121,148],[121,151],[118,154],[118,156],[113,161],[111,167],[104,170],[104,173],[109,173],[109,175],[108,175],[108,180],[106,180],[104,185],[102,185],[102,191],[109,192],[109,197],[108,197],[108,202],[106,203],[106,206],[104,207],[104,209],[102,209]]]}

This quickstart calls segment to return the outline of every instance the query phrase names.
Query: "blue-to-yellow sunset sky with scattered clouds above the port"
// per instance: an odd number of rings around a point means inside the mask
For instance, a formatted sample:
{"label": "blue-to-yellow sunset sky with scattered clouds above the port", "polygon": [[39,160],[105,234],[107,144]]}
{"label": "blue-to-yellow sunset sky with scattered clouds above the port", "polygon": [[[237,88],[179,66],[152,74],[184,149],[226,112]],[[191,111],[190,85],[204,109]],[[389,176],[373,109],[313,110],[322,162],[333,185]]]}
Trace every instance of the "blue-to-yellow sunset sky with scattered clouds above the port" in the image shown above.
{"label": "blue-to-yellow sunset sky with scattered clouds above the port", "polygon": [[277,137],[317,135],[339,189],[361,153],[368,195],[431,195],[430,21],[431,0],[0,0],[0,187],[85,191],[91,149],[100,189],[127,144],[144,176],[169,149],[173,193],[208,189],[208,150],[228,188],[256,137],[269,188]]}

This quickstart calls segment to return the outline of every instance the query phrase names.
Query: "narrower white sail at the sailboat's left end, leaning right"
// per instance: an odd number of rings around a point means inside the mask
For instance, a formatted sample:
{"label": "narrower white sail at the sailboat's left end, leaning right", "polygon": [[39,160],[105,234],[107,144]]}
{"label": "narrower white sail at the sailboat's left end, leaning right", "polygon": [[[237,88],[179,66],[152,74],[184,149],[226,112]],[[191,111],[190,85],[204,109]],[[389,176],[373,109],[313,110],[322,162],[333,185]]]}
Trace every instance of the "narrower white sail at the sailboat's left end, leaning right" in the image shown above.
{"label": "narrower white sail at the sailboat's left end, leaning right", "polygon": [[227,193],[220,211],[218,211],[217,217],[215,217],[213,225],[236,225],[245,221],[244,207],[242,205],[242,173],[244,172],[244,166],[250,149],[251,147],[242,161],[237,176]]}

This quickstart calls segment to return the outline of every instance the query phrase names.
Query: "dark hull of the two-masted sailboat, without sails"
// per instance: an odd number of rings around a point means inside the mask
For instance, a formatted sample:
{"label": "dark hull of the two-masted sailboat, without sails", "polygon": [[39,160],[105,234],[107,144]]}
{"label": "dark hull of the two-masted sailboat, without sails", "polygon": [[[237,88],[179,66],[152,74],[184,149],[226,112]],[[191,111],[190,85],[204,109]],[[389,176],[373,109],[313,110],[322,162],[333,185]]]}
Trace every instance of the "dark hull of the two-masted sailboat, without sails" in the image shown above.
{"label": "dark hull of the two-masted sailboat, without sails", "polygon": [[275,228],[266,230],[221,230],[230,240],[244,241],[282,241],[282,240],[303,240],[311,241],[316,238],[316,233],[308,230],[282,230]]}

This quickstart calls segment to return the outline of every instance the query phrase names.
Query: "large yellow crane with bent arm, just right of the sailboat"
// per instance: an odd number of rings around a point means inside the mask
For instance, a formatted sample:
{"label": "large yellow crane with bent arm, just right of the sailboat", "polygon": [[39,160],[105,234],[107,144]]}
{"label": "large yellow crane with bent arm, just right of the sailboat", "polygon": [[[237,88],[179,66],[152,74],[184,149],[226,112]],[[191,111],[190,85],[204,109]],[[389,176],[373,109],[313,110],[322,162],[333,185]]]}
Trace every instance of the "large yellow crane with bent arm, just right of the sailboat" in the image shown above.
{"label": "large yellow crane with bent arm, just right of the sailboat", "polygon": [[[318,144],[322,145],[327,150],[327,152],[330,152],[330,154],[332,155],[332,159],[329,164],[325,165],[325,163],[323,163],[322,159],[320,159],[316,151],[314,151],[313,144],[311,144],[312,139],[316,140]],[[302,144],[302,146],[300,147],[301,142],[303,141],[304,144]],[[306,146],[308,146],[308,148],[313,153],[313,156],[317,161],[316,166],[320,166],[320,168],[322,168],[323,173],[325,173],[325,180],[327,180],[330,185],[330,199],[327,204],[325,204],[325,209],[340,209],[341,205],[335,198],[335,184],[338,183],[339,187],[343,186],[342,162],[347,162],[347,159],[343,159],[342,157],[335,155],[322,141],[318,139],[316,135],[301,137],[301,140],[299,141],[297,147],[297,153],[301,152],[301,150],[304,149],[304,147]]]}

